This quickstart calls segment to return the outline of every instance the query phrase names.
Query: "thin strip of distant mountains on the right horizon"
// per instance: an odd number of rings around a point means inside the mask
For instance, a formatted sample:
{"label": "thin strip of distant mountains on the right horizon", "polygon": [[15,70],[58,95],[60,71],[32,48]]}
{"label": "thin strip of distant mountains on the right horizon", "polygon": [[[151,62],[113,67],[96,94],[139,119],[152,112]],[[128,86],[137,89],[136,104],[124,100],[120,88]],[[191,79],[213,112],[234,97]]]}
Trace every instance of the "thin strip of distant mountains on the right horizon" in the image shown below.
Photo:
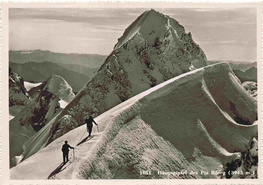
{"label": "thin strip of distant mountains on the right horizon", "polygon": [[240,61],[231,61],[231,60],[208,60],[207,64],[212,65],[220,62],[228,62],[232,70],[240,70],[242,72],[245,72],[246,70],[255,67],[257,68],[257,62],[240,62]]}

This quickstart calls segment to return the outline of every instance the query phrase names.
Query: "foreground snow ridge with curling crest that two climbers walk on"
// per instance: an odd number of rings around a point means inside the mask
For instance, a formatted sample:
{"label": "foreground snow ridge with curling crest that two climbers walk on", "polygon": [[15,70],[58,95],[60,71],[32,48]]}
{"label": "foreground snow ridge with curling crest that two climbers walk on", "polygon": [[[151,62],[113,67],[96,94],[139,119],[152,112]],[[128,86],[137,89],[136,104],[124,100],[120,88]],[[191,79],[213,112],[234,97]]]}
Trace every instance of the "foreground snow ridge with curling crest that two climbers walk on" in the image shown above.
{"label": "foreground snow ridge with curling crest that two climbers walk on", "polygon": [[[10,169],[10,178],[225,178],[200,173],[158,175],[157,170],[224,173],[243,168],[246,161],[241,155],[255,146],[256,120],[257,102],[229,65],[211,65],[167,80],[99,115],[95,121],[100,133],[94,128],[94,137],[79,146],[85,125],[45,148],[38,146],[43,149]],[[40,132],[47,131],[50,123]],[[31,146],[41,145],[38,141],[45,139],[35,135]],[[71,151],[73,163],[59,166],[65,140],[76,146],[75,161]],[[34,149],[29,146],[24,146],[26,152]],[[257,152],[254,154],[257,157]],[[140,176],[140,170],[151,170],[152,175]]]}

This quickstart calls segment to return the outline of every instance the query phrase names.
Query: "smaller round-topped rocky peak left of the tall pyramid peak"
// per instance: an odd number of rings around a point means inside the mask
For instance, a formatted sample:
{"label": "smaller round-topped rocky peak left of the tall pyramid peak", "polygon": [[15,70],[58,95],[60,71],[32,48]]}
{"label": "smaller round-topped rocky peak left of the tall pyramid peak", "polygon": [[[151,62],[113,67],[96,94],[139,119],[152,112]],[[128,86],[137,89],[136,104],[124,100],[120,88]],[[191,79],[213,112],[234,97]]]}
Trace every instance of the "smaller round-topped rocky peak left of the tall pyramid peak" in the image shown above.
{"label": "smaller round-topped rocky peak left of the tall pyramid peak", "polygon": [[11,165],[14,156],[21,155],[22,145],[48,123],[60,108],[59,101],[69,103],[75,97],[71,86],[58,75],[50,76],[40,87],[38,95],[9,122],[9,146]]}

